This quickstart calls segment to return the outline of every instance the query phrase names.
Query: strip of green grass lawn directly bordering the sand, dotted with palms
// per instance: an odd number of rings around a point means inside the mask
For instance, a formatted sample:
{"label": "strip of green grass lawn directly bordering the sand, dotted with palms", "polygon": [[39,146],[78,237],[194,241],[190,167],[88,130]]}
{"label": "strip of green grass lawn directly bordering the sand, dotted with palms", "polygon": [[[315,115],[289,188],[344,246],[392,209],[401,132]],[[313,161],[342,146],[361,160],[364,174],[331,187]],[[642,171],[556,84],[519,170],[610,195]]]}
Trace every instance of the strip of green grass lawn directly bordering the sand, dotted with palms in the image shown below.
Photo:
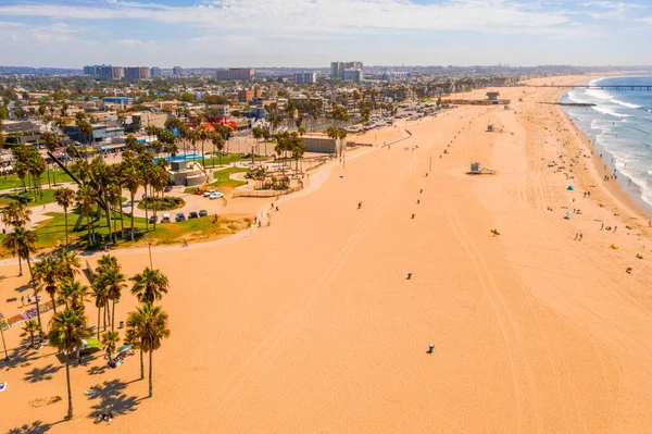
{"label": "strip of green grass lawn directly bordering the sand, dotted with palms", "polygon": [[[65,244],[65,216],[63,213],[47,213],[47,215],[52,216],[47,221],[41,222],[36,231],[38,234],[38,241],[36,244],[37,252],[42,250],[49,250],[55,248],[60,245]],[[159,219],[161,213],[159,213]],[[75,222],[77,221],[78,214],[70,213],[68,214],[68,239],[71,245],[80,249],[88,249],[88,231],[86,226],[86,219],[84,223],[79,226],[79,230],[74,231]],[[125,225],[125,239],[121,239],[121,221],[120,214],[115,214],[114,221],[116,222],[117,234],[118,234],[118,248],[125,248],[137,245],[146,245],[145,238],[149,238],[152,240],[153,245],[163,245],[163,244],[175,244],[180,243],[181,239],[187,240],[203,240],[210,238],[216,238],[225,235],[229,235],[236,233],[240,230],[248,227],[251,219],[238,219],[238,220],[229,220],[227,218],[221,216],[217,223],[213,223],[213,216],[205,216],[199,219],[190,219],[185,222],[172,222],[172,223],[163,223],[156,224],[156,230],[154,231],[153,224],[147,224],[143,218],[135,218],[134,219],[134,227],[136,227],[137,232],[134,237],[134,241],[131,241],[130,236],[130,219],[127,215],[124,215],[124,225]],[[101,224],[102,226],[96,228],[96,238],[97,245],[90,246],[90,248],[100,248],[103,244],[104,239],[109,239],[109,230],[106,228],[105,219],[96,222],[96,224]],[[148,231],[149,226],[149,231]],[[5,235],[0,234],[0,257],[10,257],[11,252],[2,247],[2,239]],[[100,239],[102,241],[100,241]],[[109,243],[110,247],[113,247],[111,243]]]}

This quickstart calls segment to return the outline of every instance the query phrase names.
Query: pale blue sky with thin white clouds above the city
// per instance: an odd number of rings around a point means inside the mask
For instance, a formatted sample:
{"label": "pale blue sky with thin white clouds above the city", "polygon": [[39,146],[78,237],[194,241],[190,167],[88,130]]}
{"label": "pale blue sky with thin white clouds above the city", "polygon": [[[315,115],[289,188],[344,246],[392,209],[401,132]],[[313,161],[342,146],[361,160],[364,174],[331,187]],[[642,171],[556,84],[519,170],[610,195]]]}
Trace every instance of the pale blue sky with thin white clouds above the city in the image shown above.
{"label": "pale blue sky with thin white clouds above the city", "polygon": [[652,0],[0,0],[0,64],[652,64]]}

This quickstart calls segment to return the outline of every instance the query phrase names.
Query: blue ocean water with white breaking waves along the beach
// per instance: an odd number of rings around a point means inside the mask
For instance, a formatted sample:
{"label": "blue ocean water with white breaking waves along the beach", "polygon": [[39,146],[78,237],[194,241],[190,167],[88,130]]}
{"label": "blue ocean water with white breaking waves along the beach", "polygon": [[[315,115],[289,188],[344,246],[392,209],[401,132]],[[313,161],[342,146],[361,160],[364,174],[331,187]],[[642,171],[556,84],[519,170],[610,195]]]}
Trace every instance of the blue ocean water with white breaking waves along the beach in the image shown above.
{"label": "blue ocean water with white breaking waves along the beach", "polygon": [[[587,84],[652,86],[652,73],[598,78]],[[652,90],[573,89],[560,101],[595,104],[563,110],[594,140],[603,161],[617,170],[623,189],[652,212]]]}

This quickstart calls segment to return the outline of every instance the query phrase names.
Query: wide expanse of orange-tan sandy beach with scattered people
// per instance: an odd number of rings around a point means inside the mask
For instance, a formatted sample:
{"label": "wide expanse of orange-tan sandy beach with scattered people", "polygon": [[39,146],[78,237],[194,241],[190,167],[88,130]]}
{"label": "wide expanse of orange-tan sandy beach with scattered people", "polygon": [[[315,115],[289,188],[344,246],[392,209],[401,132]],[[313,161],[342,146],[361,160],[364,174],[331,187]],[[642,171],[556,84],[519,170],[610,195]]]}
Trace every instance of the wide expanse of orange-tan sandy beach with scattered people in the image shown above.
{"label": "wide expanse of orange-tan sandy beach with scattered people", "polygon": [[[380,146],[312,173],[268,227],[153,249],[172,336],[153,356],[152,398],[137,356],[102,369],[100,355],[71,369],[75,418],[63,421],[54,350],[7,331],[0,432],[652,430],[650,216],[540,103],[560,89],[500,91],[509,110],[461,106],[408,123],[412,137],[389,147],[404,122],[368,133]],[[497,173],[467,175],[474,161]],[[149,264],[146,249],[113,253],[129,276]],[[16,274],[0,266],[5,315],[30,293]],[[117,320],[135,306],[125,294]],[[93,426],[104,409],[116,418]]]}

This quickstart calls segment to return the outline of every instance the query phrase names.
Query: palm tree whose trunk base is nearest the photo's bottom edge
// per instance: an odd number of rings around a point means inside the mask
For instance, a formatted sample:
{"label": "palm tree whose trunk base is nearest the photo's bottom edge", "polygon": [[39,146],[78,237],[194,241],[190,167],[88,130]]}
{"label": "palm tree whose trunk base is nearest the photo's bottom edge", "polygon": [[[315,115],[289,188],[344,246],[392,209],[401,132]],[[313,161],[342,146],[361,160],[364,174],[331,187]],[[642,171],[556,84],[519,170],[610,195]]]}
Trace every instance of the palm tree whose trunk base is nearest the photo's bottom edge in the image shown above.
{"label": "palm tree whose trunk base is nearest the photo's bottom edge", "polygon": [[82,348],[82,337],[86,336],[86,318],[84,313],[65,309],[57,313],[50,321],[48,340],[50,345],[63,352],[65,357],[65,379],[67,382],[68,410],[67,419],[73,418],[73,392],[71,389],[70,356]]}

